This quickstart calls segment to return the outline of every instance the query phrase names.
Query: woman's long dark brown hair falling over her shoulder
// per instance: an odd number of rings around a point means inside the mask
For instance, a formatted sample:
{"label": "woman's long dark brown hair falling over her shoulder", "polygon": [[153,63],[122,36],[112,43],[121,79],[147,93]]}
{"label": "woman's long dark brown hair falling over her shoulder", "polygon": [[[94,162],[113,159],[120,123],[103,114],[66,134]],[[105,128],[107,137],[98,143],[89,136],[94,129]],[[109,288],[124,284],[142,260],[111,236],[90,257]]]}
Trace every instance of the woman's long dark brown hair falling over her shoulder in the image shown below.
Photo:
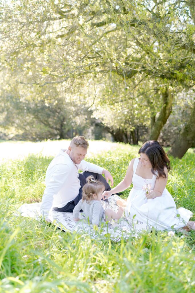
{"label": "woman's long dark brown hair falling over her shoulder", "polygon": [[156,140],[149,140],[145,142],[142,147],[139,149],[138,154],[146,154],[152,165],[151,172],[155,174],[155,171],[158,171],[157,178],[163,177],[166,178],[164,172],[164,167],[167,168],[168,172],[170,171],[170,161],[167,154],[163,150],[163,147]]}

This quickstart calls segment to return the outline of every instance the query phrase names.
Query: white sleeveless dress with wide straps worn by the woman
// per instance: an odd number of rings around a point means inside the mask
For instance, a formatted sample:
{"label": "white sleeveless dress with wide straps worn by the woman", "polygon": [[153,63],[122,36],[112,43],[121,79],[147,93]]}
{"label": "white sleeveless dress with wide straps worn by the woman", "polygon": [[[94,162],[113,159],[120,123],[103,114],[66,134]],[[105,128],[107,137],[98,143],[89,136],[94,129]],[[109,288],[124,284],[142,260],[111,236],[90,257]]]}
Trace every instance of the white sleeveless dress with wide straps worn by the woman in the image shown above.
{"label": "white sleeveless dress with wide straps worn by the woman", "polygon": [[133,164],[133,188],[127,198],[125,209],[126,217],[146,223],[157,230],[179,229],[187,224],[192,213],[188,209],[176,208],[175,202],[165,188],[160,197],[147,199],[145,190],[142,187],[151,183],[152,190],[156,183],[156,175],[152,179],[144,179],[136,174],[139,159],[136,158]]}

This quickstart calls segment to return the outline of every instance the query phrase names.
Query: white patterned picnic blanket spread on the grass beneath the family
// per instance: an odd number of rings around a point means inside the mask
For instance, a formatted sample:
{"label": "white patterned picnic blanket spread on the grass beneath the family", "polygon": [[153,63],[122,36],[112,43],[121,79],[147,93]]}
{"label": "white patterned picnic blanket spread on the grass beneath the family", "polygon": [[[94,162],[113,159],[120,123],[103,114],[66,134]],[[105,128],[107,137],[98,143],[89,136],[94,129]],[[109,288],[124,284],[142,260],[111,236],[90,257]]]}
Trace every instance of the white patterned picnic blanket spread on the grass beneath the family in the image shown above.
{"label": "white patterned picnic blanket spread on the grass beneath the family", "polygon": [[[115,212],[118,211],[118,206],[116,204],[117,200],[121,200],[118,195],[112,195],[108,198],[108,205]],[[23,217],[32,217],[34,219],[40,220],[42,215],[40,213],[41,203],[24,204],[18,209],[18,213]],[[88,220],[85,218],[84,213],[79,213],[78,222],[73,219],[73,213],[67,212],[56,212],[54,209],[51,210],[49,219],[58,228],[63,231],[77,231],[78,233],[86,232],[93,237],[97,236],[97,231],[94,231],[92,224],[89,224]],[[151,231],[152,227],[146,223],[135,222],[129,218],[121,217],[119,220],[113,220],[111,222],[101,222],[99,226],[98,234],[108,235],[110,234],[111,239],[119,241],[121,237],[129,238],[130,236],[137,236],[141,231]]]}

